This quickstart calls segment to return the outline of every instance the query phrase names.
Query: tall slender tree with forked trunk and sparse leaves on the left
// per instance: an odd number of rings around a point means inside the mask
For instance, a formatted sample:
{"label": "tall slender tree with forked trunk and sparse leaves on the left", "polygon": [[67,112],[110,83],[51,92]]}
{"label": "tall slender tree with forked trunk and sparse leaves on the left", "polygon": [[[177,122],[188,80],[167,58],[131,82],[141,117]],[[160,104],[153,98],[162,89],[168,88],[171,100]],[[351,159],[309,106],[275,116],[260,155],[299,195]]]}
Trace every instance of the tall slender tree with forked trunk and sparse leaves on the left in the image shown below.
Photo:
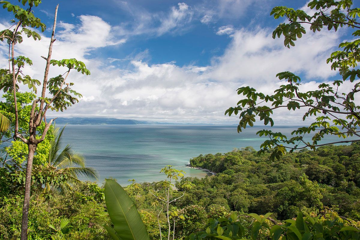
{"label": "tall slender tree with forked trunk and sparse leaves on the left", "polygon": [[[28,146],[26,183],[21,228],[21,239],[26,240],[33,158],[38,144],[44,141],[46,133],[54,121],[54,119],[51,119],[49,122],[46,120],[46,112],[48,109],[63,111],[66,110],[67,107],[78,102],[77,98],[81,97],[81,95],[71,89],[73,83],[68,83],[66,81],[67,77],[69,76],[69,73],[72,69],[76,69],[78,72],[86,75],[90,74],[90,71],[86,69],[86,66],[83,62],[76,59],[51,59],[53,44],[56,40],[54,38],[58,11],[58,6],[56,6],[48,56],[42,56],[42,58],[46,60],[44,79],[42,82],[40,82],[39,80],[33,79],[29,75],[25,75],[22,72],[22,69],[24,68],[25,64],[32,65],[32,61],[26,56],[15,56],[15,45],[20,44],[23,41],[23,34],[27,37],[33,37],[34,40],[40,40],[41,36],[31,28],[40,28],[41,31],[44,32],[46,26],[40,21],[39,18],[35,17],[33,12],[33,8],[37,7],[41,3],[41,0],[19,0],[19,2],[21,2],[23,6],[26,6],[27,9],[23,9],[18,5],[13,5],[8,1],[0,1],[0,5],[2,5],[4,9],[7,9],[8,12],[12,12],[14,14],[14,19],[12,20],[13,25],[8,29],[0,32],[0,40],[6,40],[7,44],[9,44],[9,69],[0,69],[0,87],[6,91],[12,91],[14,95],[14,139],[20,139]],[[59,67],[63,66],[67,68],[67,71],[62,75],[49,79],[49,69],[51,64],[58,65]],[[36,98],[32,102],[27,132],[19,131],[19,112],[17,106],[17,91],[19,89],[19,82],[27,85],[35,93],[37,92],[36,86],[40,86],[42,84],[40,97]],[[44,126],[42,129],[42,134],[41,136],[37,136],[41,125]]]}

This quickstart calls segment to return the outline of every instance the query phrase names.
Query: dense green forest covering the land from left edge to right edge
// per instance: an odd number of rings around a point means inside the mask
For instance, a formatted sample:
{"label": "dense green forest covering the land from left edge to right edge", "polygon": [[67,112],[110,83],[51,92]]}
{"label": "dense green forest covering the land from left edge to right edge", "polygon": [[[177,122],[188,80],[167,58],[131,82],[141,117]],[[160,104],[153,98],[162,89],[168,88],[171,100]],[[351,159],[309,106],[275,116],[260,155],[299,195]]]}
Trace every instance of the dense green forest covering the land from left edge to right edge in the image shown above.
{"label": "dense green forest covering the land from left edge to right edge", "polygon": [[[270,153],[269,153],[270,154]],[[215,176],[179,179],[171,198],[175,239],[200,231],[209,218],[229,217],[235,212],[250,227],[246,213],[264,215],[281,221],[304,215],[326,217],[360,226],[360,144],[324,146],[317,151],[302,150],[271,162],[268,155],[257,155],[251,148],[234,149],[225,154],[199,155],[190,159],[193,167],[217,172]],[[20,231],[23,181],[19,166],[1,168],[0,239],[12,239]],[[36,169],[39,169],[37,167]],[[40,181],[42,176],[33,176]],[[182,188],[191,182],[189,190]],[[164,195],[162,182],[133,182],[125,188],[147,227],[150,239],[159,239],[157,196]],[[104,189],[90,182],[77,182],[71,191],[51,191],[33,185],[30,205],[30,239],[48,239],[68,219],[72,226],[68,239],[109,239],[103,224],[111,225],[104,202]],[[166,235],[166,213],[159,214]],[[265,237],[265,235],[264,235]]]}

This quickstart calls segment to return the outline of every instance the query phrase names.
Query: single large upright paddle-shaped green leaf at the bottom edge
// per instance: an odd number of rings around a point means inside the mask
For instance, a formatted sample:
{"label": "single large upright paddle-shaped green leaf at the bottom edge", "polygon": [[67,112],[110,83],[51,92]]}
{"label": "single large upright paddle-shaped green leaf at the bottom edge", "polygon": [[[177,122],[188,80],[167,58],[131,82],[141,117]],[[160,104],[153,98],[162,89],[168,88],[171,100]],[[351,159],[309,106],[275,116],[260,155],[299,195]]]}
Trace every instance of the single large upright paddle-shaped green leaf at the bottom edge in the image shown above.
{"label": "single large upright paddle-shaped green leaf at the bottom edge", "polygon": [[115,180],[105,182],[105,203],[114,229],[122,240],[149,240],[138,210]]}

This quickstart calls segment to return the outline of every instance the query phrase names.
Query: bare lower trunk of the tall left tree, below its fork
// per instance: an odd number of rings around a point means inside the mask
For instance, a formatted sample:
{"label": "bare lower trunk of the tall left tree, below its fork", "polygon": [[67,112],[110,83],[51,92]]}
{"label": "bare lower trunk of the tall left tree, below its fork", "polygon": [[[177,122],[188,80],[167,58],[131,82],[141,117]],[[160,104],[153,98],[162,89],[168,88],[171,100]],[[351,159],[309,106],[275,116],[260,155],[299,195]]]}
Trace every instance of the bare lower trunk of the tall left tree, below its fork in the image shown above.
{"label": "bare lower trunk of the tall left tree, below its fork", "polygon": [[31,172],[32,172],[32,161],[34,159],[34,153],[36,150],[35,144],[28,145],[29,154],[27,157],[26,164],[26,181],[25,181],[25,193],[24,193],[24,205],[21,222],[21,240],[27,240],[27,227],[28,227],[28,215],[30,205],[30,190],[31,190]]}

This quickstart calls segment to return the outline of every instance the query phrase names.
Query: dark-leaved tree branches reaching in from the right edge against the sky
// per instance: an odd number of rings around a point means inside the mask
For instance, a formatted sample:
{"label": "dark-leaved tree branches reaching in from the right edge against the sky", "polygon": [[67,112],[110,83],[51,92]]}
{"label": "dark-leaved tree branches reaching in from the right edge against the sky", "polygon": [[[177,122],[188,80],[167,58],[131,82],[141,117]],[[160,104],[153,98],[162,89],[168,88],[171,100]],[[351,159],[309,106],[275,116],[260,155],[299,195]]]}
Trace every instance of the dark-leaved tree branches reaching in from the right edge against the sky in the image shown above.
{"label": "dark-leaved tree branches reaching in from the right edge against the sky", "polygon": [[[308,6],[316,10],[314,14],[308,15],[303,10],[276,6],[271,15],[274,15],[275,19],[284,17],[287,22],[279,24],[273,32],[273,38],[283,35],[284,45],[290,48],[295,45],[294,41],[306,33],[305,24],[309,24],[313,32],[323,31],[324,28],[337,31],[339,28],[349,27],[355,29],[352,33],[354,37],[360,36],[360,8],[354,8],[352,0],[313,0]],[[360,69],[356,68],[360,61],[359,45],[360,39],[342,42],[339,44],[340,50],[333,52],[327,59],[327,63],[331,63],[331,69],[339,71],[341,80],[335,80],[332,84],[321,83],[317,90],[301,92],[300,77],[291,72],[281,72],[276,74],[276,77],[287,82],[276,89],[273,95],[265,95],[249,86],[240,87],[238,94],[246,98],[241,99],[237,107],[226,110],[225,115],[239,115],[238,132],[247,126],[252,127],[256,117],[264,121],[265,125],[270,123],[273,126],[271,116],[273,111],[279,108],[306,109],[303,121],[316,117],[309,126],[294,130],[290,138],[281,132],[258,131],[257,135],[269,137],[269,140],[261,144],[259,153],[273,149],[271,159],[279,159],[287,149],[292,152],[296,149],[316,149],[323,145],[360,141],[360,106],[355,101],[357,93],[360,92]],[[348,82],[351,83],[351,90],[341,92],[341,86]],[[305,141],[304,136],[309,133],[312,133],[312,139]],[[344,139],[354,136],[356,139],[320,143],[326,135]]]}

